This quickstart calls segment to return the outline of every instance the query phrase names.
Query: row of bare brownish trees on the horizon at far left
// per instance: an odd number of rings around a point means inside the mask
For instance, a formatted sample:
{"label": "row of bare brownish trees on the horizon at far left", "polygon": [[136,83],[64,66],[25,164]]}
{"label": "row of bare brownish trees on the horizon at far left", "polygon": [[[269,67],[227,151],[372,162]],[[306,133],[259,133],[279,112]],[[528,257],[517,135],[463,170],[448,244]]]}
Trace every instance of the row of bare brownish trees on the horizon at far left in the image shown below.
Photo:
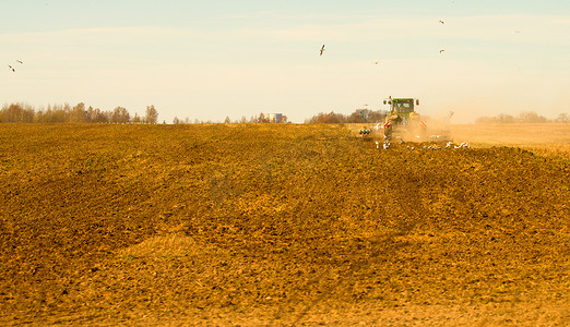
{"label": "row of bare brownish trees on the horizon at far left", "polygon": [[48,106],[47,109],[36,110],[24,104],[4,105],[0,109],[0,123],[147,123],[158,121],[158,111],[154,106],[147,106],[144,117],[138,113],[131,117],[123,107],[105,111],[98,108],[85,108],[80,102],[74,107],[69,104]]}

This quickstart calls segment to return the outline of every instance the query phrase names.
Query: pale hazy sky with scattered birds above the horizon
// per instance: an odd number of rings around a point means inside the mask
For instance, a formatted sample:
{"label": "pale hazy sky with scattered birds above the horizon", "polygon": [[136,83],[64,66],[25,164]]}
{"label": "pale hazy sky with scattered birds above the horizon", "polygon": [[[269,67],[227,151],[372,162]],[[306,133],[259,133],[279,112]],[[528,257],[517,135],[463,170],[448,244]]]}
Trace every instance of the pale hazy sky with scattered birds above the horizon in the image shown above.
{"label": "pale hazy sky with scattered birds above the horizon", "polygon": [[570,1],[1,0],[0,63],[0,106],[36,110],[304,122],[392,96],[454,123],[555,119],[570,113]]}

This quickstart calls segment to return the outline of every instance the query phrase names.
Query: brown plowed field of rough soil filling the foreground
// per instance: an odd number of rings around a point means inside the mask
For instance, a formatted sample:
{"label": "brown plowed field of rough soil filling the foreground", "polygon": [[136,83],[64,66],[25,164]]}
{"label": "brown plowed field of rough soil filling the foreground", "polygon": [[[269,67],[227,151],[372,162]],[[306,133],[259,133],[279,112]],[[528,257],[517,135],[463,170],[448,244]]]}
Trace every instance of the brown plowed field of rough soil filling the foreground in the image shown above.
{"label": "brown plowed field of rough soil filling the foreground", "polygon": [[570,166],[342,125],[0,125],[0,325],[570,324]]}

